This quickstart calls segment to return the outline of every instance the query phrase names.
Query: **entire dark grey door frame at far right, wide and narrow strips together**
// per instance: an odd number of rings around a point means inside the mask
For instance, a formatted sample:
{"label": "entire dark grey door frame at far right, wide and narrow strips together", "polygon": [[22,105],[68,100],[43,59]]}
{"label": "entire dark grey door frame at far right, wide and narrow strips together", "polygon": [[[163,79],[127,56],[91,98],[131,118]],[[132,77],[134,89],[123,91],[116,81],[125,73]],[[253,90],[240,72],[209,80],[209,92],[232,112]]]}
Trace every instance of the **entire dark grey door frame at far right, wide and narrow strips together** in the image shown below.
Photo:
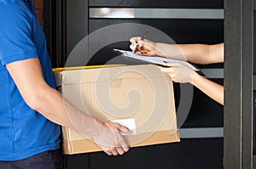
{"label": "entire dark grey door frame at far right, wide and narrow strips together", "polygon": [[253,168],[253,1],[224,8],[224,168]]}

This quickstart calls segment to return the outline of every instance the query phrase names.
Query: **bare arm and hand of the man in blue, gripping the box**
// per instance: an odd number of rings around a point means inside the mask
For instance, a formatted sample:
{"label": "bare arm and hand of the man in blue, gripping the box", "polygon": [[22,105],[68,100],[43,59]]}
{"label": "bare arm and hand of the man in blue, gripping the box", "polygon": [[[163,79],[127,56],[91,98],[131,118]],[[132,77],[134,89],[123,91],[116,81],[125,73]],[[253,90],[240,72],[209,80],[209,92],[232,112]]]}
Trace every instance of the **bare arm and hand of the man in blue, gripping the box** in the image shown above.
{"label": "bare arm and hand of the man in blue, gripping the box", "polygon": [[93,138],[108,155],[123,155],[129,150],[119,131],[131,131],[118,123],[100,121],[76,109],[61,93],[44,81],[38,59],[20,60],[6,67],[22,98],[33,110],[37,110],[50,121]]}

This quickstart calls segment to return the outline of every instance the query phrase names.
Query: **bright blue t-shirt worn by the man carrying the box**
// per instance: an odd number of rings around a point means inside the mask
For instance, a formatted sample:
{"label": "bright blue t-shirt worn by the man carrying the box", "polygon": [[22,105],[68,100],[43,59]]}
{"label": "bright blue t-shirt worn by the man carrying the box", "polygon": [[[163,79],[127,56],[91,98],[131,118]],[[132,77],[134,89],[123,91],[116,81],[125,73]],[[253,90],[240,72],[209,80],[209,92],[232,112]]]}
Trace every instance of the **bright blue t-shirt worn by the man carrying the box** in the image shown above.
{"label": "bright blue t-shirt worn by the man carrying the box", "polygon": [[27,0],[0,0],[0,23],[0,161],[59,149],[60,126],[25,103],[5,67],[38,58],[45,81],[55,87],[44,31]]}

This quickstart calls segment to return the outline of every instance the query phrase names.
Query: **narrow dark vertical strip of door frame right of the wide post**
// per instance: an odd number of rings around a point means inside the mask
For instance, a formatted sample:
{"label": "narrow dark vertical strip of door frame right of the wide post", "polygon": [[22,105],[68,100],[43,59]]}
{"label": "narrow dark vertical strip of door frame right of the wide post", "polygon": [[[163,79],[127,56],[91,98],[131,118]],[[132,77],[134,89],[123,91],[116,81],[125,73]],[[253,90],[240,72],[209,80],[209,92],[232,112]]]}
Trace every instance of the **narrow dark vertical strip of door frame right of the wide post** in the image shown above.
{"label": "narrow dark vertical strip of door frame right of the wide post", "polygon": [[253,168],[253,0],[244,0],[242,14],[242,168]]}

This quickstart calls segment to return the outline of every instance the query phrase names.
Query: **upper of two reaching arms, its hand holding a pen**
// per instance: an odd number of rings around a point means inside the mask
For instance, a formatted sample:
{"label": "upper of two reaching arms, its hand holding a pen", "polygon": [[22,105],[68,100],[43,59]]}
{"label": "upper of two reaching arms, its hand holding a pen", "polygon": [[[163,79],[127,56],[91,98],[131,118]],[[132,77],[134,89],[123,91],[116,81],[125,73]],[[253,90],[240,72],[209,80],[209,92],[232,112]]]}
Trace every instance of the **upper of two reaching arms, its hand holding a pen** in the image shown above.
{"label": "upper of two reaching arms, its hand holding a pen", "polygon": [[141,37],[130,39],[130,48],[134,51],[137,44],[140,50],[136,54],[144,56],[161,56],[172,59],[182,59],[195,64],[213,64],[224,62],[224,43],[207,44],[167,44],[151,42]]}

